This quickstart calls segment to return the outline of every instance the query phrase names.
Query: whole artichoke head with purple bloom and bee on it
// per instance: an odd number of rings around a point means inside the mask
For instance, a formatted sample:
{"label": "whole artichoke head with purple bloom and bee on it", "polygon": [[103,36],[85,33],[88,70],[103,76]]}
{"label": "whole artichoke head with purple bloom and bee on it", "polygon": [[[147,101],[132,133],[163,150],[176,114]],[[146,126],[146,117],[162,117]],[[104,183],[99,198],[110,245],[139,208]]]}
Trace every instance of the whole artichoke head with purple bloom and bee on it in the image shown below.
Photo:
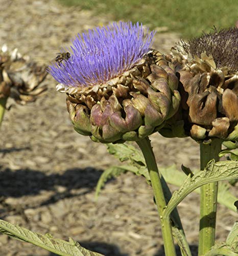
{"label": "whole artichoke head with purple bloom and bee on it", "polygon": [[103,143],[136,141],[177,111],[174,65],[150,49],[154,34],[138,23],[113,23],[78,34],[62,49],[70,57],[48,71],[67,94],[78,133]]}

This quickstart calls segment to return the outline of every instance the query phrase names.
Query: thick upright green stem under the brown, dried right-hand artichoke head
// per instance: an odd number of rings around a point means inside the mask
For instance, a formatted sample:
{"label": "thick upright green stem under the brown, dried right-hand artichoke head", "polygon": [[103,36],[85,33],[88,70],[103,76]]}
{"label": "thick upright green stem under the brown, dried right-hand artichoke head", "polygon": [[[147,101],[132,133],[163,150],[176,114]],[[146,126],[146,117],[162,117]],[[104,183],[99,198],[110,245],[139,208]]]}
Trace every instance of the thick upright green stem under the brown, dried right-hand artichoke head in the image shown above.
{"label": "thick upright green stem under the brown, dried right-hand artichoke head", "polygon": [[[200,167],[203,170],[211,159],[219,161],[222,141],[214,139],[209,144],[200,144]],[[201,187],[199,255],[204,255],[215,244],[218,182]]]}

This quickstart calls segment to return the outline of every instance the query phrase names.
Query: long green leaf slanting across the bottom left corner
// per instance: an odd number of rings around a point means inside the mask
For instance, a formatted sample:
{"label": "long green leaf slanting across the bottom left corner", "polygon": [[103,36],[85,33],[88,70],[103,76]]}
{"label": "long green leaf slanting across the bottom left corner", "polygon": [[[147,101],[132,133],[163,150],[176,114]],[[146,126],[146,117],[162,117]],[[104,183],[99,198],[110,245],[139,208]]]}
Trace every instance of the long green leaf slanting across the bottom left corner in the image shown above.
{"label": "long green leaf slanting across the bottom left corner", "polygon": [[92,252],[81,247],[72,238],[69,238],[69,242],[66,242],[61,239],[52,238],[49,234],[44,236],[43,234],[32,232],[31,230],[13,225],[4,220],[0,220],[0,232],[62,256],[102,256],[100,253]]}

